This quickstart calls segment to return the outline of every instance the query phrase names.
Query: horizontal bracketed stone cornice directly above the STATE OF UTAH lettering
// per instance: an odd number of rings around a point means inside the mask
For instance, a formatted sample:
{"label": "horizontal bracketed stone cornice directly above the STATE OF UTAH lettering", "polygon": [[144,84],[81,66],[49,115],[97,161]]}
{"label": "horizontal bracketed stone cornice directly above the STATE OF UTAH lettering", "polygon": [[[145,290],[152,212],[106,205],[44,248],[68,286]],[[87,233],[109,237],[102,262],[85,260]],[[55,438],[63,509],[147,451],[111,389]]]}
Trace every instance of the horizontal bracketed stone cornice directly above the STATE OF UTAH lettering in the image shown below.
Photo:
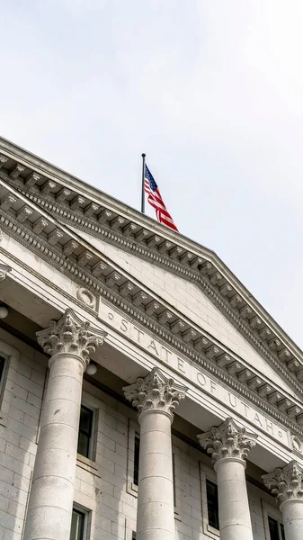
{"label": "horizontal bracketed stone cornice directly above the STATE OF UTAH lettering", "polygon": [[[31,221],[24,218],[30,214],[27,208],[31,210]],[[41,220],[44,220],[42,225],[48,233],[40,230]],[[47,220],[51,221],[51,226],[49,222],[45,223]],[[293,434],[302,437],[303,406],[299,402],[275,388],[263,374],[246,365],[227,347],[3,182],[0,182],[0,221],[6,232],[51,266],[69,275],[76,283],[85,285],[132,320],[137,320],[144,329],[174,347],[190,362],[200,365],[227,388],[234,389]],[[39,233],[34,231],[37,227]],[[41,238],[43,234],[44,238]]]}

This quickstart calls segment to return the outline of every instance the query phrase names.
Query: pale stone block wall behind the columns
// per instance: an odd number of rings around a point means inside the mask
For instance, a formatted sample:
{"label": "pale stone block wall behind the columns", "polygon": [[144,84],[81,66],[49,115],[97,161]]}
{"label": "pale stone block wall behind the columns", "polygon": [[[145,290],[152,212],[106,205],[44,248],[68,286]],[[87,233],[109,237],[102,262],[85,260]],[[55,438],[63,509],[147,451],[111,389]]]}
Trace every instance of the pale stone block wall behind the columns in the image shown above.
{"label": "pale stone block wall behind the columns", "polygon": [[[0,354],[8,369],[0,404],[0,540],[22,540],[39,436],[47,358],[3,330]],[[83,402],[95,410],[94,453],[78,455],[75,505],[87,512],[86,538],[132,540],[137,491],[132,482],[135,410],[85,382]],[[208,525],[206,478],[216,482],[209,457],[173,436],[177,540],[218,539]],[[254,540],[269,540],[267,513],[281,518],[274,500],[248,483]]]}

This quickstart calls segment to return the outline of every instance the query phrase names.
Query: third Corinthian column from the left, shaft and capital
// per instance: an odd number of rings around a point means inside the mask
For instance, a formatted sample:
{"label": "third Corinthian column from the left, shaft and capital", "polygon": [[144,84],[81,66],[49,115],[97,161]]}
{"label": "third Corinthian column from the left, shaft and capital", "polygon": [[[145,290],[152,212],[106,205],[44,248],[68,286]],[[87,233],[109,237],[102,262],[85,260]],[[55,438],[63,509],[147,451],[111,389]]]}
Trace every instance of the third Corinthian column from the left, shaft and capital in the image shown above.
{"label": "third Corinthian column from the left, shaft and capital", "polygon": [[249,513],[245,459],[257,436],[226,419],[219,428],[198,436],[212,456],[218,481],[218,520],[221,540],[253,540]]}

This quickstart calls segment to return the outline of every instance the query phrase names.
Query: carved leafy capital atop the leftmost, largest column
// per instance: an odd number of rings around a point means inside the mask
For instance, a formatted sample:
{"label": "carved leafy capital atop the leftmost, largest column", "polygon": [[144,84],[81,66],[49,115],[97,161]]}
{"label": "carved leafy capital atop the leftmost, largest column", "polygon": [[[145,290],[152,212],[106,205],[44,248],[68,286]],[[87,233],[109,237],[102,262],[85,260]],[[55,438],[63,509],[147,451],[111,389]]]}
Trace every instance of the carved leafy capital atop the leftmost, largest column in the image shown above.
{"label": "carved leafy capital atop the leftmost, largest column", "polygon": [[80,320],[73,310],[67,309],[60,320],[51,320],[49,328],[37,332],[37,340],[47,355],[70,353],[80,356],[89,364],[90,356],[100,347],[106,332],[91,329],[88,321]]}

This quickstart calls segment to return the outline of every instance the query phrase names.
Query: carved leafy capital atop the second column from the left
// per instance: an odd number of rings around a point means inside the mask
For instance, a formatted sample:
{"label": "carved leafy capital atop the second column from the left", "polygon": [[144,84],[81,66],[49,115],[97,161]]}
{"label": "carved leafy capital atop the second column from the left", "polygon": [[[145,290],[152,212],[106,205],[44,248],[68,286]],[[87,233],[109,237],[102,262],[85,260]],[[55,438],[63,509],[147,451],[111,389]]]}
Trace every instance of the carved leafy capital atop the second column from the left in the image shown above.
{"label": "carved leafy capital atop the second column from the left", "polygon": [[174,379],[166,378],[157,367],[145,378],[139,377],[136,383],[123,388],[126,399],[138,408],[138,415],[147,410],[163,410],[172,421],[174,410],[185,398],[187,390],[182,384],[174,383]]}

